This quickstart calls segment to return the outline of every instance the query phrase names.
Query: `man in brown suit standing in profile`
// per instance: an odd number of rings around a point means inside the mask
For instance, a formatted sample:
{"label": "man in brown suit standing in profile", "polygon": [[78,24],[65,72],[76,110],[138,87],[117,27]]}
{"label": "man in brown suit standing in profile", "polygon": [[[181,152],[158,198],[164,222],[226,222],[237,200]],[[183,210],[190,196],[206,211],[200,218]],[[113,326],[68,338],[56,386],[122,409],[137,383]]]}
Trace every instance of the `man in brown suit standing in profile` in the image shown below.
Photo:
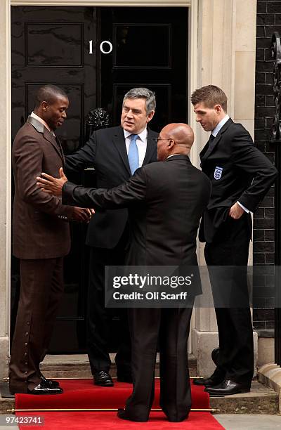
{"label": "man in brown suit standing in profile", "polygon": [[65,164],[54,130],[69,105],[53,85],[39,89],[34,112],[15,136],[13,254],[20,259],[20,300],[10,362],[11,393],[58,394],[58,382],[39,370],[63,295],[63,256],[70,251],[67,220],[89,221],[91,211],[62,204],[36,185],[41,171],[57,174]]}

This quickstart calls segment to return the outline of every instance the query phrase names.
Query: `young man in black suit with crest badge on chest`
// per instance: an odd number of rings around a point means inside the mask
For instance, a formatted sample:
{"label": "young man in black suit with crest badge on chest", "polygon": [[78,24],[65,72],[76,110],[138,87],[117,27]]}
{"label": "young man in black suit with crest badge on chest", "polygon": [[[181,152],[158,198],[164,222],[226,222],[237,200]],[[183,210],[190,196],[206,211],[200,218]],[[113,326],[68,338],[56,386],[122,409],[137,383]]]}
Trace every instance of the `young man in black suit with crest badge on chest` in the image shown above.
{"label": "young man in black suit with crest badge on chest", "polygon": [[[200,241],[206,242],[206,263],[239,266],[231,277],[226,268],[209,270],[219,353],[214,374],[195,384],[204,384],[213,395],[229,395],[249,391],[251,387],[254,346],[247,290],[250,211],[256,210],[277,171],[254,146],[242,124],[235,124],[228,117],[227,97],[221,89],[204,86],[192,93],[191,101],[197,122],[205,131],[211,131],[200,153],[202,171],[211,179],[211,197],[200,226]],[[227,297],[227,285],[234,300]]]}

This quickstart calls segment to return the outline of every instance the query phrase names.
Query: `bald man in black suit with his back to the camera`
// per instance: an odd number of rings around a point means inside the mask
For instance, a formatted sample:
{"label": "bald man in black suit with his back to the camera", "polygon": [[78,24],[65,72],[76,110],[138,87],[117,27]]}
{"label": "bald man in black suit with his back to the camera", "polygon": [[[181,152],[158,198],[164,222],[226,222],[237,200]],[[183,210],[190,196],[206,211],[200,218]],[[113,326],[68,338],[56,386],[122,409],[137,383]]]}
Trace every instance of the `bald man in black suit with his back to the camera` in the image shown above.
{"label": "bald man in black suit with his back to the camera", "polygon": [[[129,266],[197,266],[196,237],[207,207],[210,183],[188,157],[193,132],[186,124],[169,124],[157,139],[159,162],[138,169],[112,190],[82,188],[44,175],[39,185],[63,202],[94,208],[129,207]],[[43,174],[42,174],[43,175]],[[66,183],[65,183],[66,182]],[[179,422],[191,408],[188,334],[193,299],[183,308],[131,308],[133,393],[118,415],[147,421],[154,398],[154,370],[159,337],[160,404],[168,419]]]}

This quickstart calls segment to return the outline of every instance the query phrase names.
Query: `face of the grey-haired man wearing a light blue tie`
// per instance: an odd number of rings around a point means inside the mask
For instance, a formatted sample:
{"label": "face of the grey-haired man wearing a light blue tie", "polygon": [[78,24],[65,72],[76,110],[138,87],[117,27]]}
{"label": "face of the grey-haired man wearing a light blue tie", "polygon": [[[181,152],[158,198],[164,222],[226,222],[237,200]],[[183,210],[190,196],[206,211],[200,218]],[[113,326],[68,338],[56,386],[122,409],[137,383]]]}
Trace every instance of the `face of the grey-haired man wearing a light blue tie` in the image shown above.
{"label": "face of the grey-haired man wearing a light blue tie", "polygon": [[126,98],[122,107],[121,126],[132,134],[141,133],[154,112],[146,113],[145,98]]}

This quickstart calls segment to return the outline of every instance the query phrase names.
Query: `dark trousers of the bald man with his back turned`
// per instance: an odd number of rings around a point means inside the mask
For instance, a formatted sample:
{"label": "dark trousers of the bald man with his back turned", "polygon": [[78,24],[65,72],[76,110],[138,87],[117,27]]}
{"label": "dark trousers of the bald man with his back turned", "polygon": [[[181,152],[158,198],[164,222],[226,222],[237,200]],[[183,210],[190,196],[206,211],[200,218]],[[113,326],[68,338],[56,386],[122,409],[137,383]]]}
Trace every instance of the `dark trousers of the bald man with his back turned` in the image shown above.
{"label": "dark trousers of the bald man with his back turned", "polygon": [[[191,305],[190,305],[191,306]],[[148,419],[154,400],[157,339],[160,351],[160,405],[170,421],[188,417],[190,308],[131,308],[133,393],[126,400],[131,419]]]}

